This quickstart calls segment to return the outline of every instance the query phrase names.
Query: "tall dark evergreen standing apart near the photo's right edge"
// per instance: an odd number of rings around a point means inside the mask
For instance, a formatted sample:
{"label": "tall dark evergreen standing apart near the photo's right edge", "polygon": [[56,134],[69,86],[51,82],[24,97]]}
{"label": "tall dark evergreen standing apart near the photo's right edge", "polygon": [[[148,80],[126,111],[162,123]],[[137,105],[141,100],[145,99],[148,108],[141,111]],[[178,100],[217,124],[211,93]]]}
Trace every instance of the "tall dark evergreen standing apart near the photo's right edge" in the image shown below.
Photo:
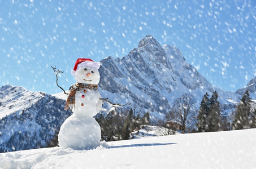
{"label": "tall dark evergreen standing apart near the photo's right edge", "polygon": [[249,90],[246,90],[240,103],[237,106],[235,120],[233,122],[234,130],[249,128],[249,117],[251,109],[251,98]]}

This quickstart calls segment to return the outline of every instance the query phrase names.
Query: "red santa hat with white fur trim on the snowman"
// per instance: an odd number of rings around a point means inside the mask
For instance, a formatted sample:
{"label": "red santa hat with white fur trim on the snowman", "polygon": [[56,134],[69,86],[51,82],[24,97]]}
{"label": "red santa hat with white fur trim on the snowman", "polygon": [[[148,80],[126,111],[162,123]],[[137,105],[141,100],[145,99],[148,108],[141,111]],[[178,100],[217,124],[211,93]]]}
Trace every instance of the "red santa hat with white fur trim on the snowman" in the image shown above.
{"label": "red santa hat with white fur trim on the snowman", "polygon": [[98,69],[99,66],[101,66],[101,63],[100,62],[94,62],[92,59],[79,58],[79,59],[76,60],[76,64],[75,64],[73,70],[71,71],[71,74],[75,75],[76,70],[83,67],[83,66]]}

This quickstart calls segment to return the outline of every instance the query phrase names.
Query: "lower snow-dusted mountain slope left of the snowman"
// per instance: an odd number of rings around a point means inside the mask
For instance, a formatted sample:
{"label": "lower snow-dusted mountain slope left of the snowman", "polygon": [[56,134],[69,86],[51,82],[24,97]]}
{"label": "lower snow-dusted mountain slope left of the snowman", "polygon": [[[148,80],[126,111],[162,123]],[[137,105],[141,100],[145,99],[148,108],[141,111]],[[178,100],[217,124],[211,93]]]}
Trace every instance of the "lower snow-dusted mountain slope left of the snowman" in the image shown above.
{"label": "lower snow-dusted mountain slope left of the snowman", "polygon": [[46,147],[71,112],[65,101],[43,92],[0,88],[0,152]]}

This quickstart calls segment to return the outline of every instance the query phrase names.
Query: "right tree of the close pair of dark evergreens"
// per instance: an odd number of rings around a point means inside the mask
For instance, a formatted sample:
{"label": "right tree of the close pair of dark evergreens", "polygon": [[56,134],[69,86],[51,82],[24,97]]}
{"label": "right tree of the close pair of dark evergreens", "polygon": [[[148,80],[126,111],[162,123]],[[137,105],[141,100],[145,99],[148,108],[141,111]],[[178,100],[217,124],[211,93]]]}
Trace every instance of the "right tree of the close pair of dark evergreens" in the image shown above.
{"label": "right tree of the close pair of dark evergreens", "polygon": [[209,112],[206,115],[207,131],[220,131],[220,103],[218,93],[214,91],[209,100]]}

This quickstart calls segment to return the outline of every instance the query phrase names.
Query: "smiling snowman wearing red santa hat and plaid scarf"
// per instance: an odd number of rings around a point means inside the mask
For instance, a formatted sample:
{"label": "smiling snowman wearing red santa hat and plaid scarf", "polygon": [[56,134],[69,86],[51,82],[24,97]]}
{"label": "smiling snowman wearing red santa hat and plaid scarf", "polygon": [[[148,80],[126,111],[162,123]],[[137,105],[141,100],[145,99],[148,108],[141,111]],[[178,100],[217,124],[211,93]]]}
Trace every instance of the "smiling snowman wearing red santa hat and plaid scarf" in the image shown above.
{"label": "smiling snowman wearing red santa hat and plaid scarf", "polygon": [[76,83],[71,86],[65,109],[73,114],[64,121],[59,131],[59,146],[76,150],[92,149],[100,145],[101,127],[93,118],[101,110],[101,95],[97,91],[99,66],[91,59],[77,59],[71,72]]}

